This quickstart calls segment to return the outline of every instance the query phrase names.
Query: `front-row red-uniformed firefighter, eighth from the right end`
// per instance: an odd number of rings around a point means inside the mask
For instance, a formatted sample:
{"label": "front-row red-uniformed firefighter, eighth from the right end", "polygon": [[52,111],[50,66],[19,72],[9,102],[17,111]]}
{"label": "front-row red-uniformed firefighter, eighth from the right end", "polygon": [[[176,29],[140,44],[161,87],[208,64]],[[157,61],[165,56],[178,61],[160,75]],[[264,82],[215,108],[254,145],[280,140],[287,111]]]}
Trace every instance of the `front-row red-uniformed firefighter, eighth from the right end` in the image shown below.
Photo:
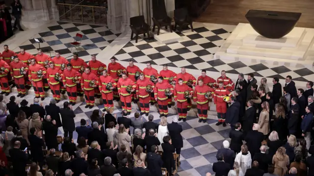
{"label": "front-row red-uniformed firefighter, eighth from the right end", "polygon": [[[95,81],[94,87],[91,87],[89,83]],[[90,67],[86,67],[85,73],[82,74],[80,79],[80,85],[84,90],[86,106],[85,108],[93,108],[95,104],[95,87],[98,85],[98,77],[91,73]]]}

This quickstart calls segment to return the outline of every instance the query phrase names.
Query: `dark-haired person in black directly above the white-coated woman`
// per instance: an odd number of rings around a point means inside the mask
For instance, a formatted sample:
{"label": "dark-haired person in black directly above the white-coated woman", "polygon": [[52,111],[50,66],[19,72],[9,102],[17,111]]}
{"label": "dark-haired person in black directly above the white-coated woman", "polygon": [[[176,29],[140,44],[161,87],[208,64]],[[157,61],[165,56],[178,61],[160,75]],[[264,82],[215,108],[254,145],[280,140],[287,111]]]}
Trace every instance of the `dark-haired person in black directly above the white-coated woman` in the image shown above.
{"label": "dark-haired person in black directly above the white-coated woman", "polygon": [[243,144],[242,141],[244,140],[244,134],[243,132],[240,131],[240,129],[241,129],[241,124],[235,123],[235,129],[229,132],[229,138],[231,139],[230,149],[233,150],[235,153],[238,153],[241,151],[241,146]]}

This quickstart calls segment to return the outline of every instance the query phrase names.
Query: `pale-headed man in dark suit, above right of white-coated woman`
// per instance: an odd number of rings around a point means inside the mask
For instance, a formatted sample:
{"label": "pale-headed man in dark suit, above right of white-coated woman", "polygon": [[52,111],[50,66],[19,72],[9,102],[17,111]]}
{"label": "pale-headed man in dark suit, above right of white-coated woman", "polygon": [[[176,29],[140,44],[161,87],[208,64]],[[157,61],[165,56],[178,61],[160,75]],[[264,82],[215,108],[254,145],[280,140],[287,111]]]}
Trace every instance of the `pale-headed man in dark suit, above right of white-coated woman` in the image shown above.
{"label": "pale-headed man in dark suit, above right of white-coated woman", "polygon": [[262,146],[262,141],[264,139],[264,134],[259,132],[258,129],[260,129],[260,125],[254,124],[253,131],[249,131],[244,138],[252,158],[255,153],[260,151],[260,147]]}

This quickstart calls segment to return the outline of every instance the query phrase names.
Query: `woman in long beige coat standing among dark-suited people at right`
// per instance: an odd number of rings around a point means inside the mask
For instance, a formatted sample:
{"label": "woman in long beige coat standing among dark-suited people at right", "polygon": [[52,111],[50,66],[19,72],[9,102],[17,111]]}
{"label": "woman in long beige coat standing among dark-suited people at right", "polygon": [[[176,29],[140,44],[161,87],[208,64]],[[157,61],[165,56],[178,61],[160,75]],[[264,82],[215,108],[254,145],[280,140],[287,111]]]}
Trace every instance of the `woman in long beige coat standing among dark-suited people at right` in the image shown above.
{"label": "woman in long beige coat standing among dark-suited people at right", "polygon": [[269,104],[267,101],[262,102],[262,112],[260,114],[259,131],[266,136],[269,133]]}

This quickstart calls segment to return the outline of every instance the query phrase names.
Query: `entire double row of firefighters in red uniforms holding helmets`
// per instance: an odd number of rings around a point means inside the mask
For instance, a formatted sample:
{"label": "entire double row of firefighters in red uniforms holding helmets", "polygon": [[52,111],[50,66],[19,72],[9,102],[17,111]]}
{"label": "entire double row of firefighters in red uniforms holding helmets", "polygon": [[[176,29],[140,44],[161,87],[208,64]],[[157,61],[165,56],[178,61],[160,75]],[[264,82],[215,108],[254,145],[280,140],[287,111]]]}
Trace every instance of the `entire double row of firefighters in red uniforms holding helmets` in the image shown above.
{"label": "entire double row of firefighters in red uniforms holding helmets", "polygon": [[[60,94],[65,91],[70,103],[76,104],[78,96],[85,96],[85,108],[94,106],[95,97],[102,98],[105,111],[113,107],[113,101],[121,101],[123,110],[131,113],[131,101],[137,103],[141,115],[148,116],[150,103],[158,104],[160,116],[168,115],[172,98],[177,101],[179,120],[185,121],[187,111],[191,108],[191,100],[196,102],[199,122],[205,123],[208,117],[209,101],[213,98],[216,104],[218,124],[225,126],[226,101],[232,96],[235,88],[234,82],[224,72],[217,81],[206,75],[196,78],[185,72],[176,74],[163,66],[159,73],[147,63],[147,68],[141,71],[130,60],[127,68],[116,62],[112,57],[108,67],[92,55],[91,61],[85,63],[77,54],[71,59],[60,56],[56,51],[51,58],[38,50],[33,56],[24,49],[19,54],[8,47],[4,47],[0,55],[0,83],[2,94],[9,95],[9,80],[14,80],[18,90],[18,97],[26,95],[27,86],[33,86],[35,96],[45,99],[45,91],[49,88],[53,98],[59,102]],[[175,86],[173,86],[175,84]],[[194,90],[193,90],[194,88]]]}

